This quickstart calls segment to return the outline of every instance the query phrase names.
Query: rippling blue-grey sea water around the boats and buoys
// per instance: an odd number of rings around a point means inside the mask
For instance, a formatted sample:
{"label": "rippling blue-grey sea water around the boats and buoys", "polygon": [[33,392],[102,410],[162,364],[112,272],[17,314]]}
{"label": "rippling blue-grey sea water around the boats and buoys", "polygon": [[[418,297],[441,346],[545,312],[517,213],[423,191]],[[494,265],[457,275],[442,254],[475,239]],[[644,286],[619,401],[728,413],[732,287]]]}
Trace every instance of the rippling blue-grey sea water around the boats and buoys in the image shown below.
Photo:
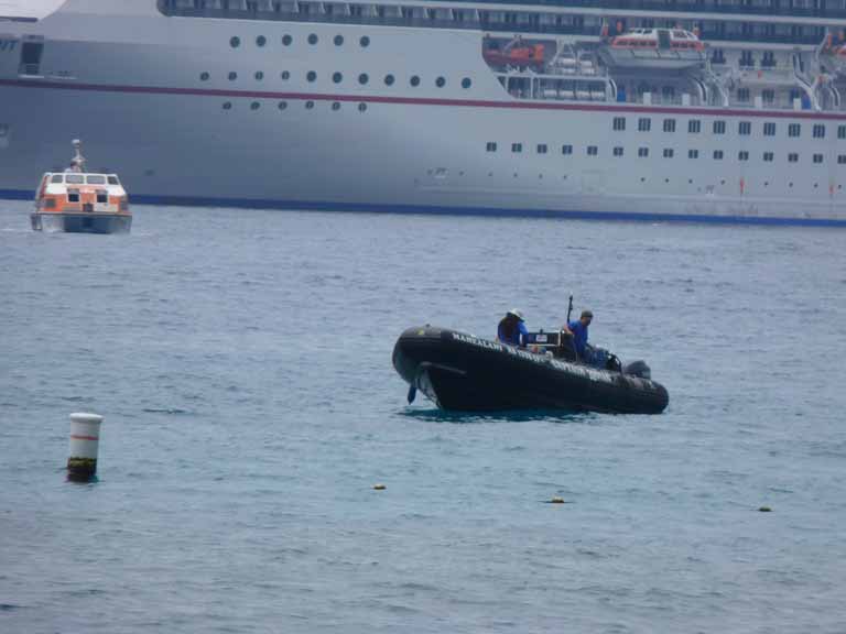
{"label": "rippling blue-grey sea water around the boats and buoys", "polygon": [[[0,204],[0,632],[846,631],[844,231],[28,211]],[[405,327],[553,328],[570,294],[663,415],[406,405]]]}

